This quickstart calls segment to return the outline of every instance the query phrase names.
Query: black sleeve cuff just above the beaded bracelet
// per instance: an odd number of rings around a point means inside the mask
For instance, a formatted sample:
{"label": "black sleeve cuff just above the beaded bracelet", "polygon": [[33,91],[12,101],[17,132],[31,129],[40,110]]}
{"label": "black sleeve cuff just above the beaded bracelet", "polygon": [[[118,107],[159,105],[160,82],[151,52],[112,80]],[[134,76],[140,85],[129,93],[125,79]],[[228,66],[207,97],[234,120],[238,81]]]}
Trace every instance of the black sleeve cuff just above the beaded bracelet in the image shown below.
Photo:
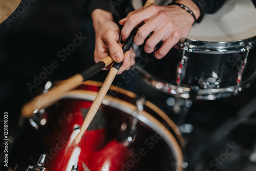
{"label": "black sleeve cuff just above the beaded bracelet", "polygon": [[225,3],[226,0],[193,0],[201,11],[201,16],[198,18],[197,23],[201,22],[206,13],[214,13]]}

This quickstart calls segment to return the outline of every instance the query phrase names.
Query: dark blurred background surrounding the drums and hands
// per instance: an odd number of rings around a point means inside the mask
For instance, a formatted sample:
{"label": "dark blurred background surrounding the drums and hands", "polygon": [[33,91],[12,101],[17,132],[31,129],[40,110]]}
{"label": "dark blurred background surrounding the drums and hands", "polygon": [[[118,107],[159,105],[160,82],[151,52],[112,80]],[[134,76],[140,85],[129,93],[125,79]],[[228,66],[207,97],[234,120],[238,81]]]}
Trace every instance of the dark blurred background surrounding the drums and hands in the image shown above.
{"label": "dark blurred background surrounding the drums and hands", "polygon": [[[19,6],[25,7],[26,4],[29,7],[25,11],[15,10],[17,16],[11,15],[0,24],[0,126],[2,131],[3,114],[8,112],[10,154],[22,134],[22,129],[18,126],[22,105],[39,94],[40,88],[48,80],[67,79],[94,64],[94,30],[86,1],[35,0],[22,1]],[[62,61],[63,58],[59,58],[57,53],[73,44],[76,35],[82,35],[86,39]],[[36,88],[29,88],[30,83],[34,84],[35,76],[39,76],[44,67],[51,66],[53,60],[58,67],[46,79],[41,80]],[[101,71],[92,80],[102,82],[107,73]],[[117,76],[115,82],[119,81],[123,83],[124,89],[145,94],[147,100],[156,104],[175,123],[179,122],[180,116],[173,112],[173,106],[168,103],[168,100],[172,100],[170,96],[147,86],[140,75],[132,77],[129,83]],[[256,170],[256,113],[253,109],[255,86],[253,82],[250,88],[234,97],[215,101],[197,100],[191,105],[183,123],[178,123],[180,127],[189,127],[189,131],[182,134],[187,145],[186,170]],[[231,121],[239,120],[238,114],[242,116],[250,112],[253,115],[249,119],[243,120],[231,131],[228,129],[232,125]],[[28,137],[29,135],[26,138]],[[4,155],[2,139],[0,161]],[[219,163],[218,168],[211,166],[210,161],[225,153],[228,143],[239,146],[237,152]],[[33,151],[28,148],[28,151],[31,150]],[[16,170],[16,162],[10,161],[8,169]],[[3,162],[1,166],[6,169]]]}

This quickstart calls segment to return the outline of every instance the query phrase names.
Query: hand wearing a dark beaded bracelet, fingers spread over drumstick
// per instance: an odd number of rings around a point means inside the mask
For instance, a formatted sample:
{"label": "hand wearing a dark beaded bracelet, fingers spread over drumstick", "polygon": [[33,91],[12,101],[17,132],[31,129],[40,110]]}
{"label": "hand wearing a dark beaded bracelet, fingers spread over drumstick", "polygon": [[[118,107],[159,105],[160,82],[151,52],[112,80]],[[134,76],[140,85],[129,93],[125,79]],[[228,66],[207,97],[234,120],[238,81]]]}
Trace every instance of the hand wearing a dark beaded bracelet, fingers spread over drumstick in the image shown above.
{"label": "hand wearing a dark beaded bracelet, fingers spread over drumstick", "polygon": [[[200,10],[193,1],[179,0],[176,2],[187,6],[194,12],[196,18],[199,18]],[[156,45],[162,40],[161,48],[155,52],[155,57],[161,59],[181,38],[188,36],[194,18],[177,5],[151,5],[144,9],[132,11],[126,18],[120,20],[119,23],[123,25],[122,39],[125,40],[133,28],[142,22],[145,24],[139,28],[134,37],[135,44],[142,45],[147,35],[154,32],[145,42],[144,51],[146,53],[154,52]]]}

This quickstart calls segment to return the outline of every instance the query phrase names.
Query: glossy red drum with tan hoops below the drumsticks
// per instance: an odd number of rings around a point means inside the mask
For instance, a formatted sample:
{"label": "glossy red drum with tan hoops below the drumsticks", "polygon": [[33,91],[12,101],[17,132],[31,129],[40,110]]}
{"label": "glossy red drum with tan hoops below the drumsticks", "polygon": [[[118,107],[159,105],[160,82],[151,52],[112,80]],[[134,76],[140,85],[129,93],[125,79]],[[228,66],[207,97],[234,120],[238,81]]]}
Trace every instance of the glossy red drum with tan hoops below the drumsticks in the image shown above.
{"label": "glossy red drum with tan hoops below the drumsticks", "polygon": [[54,171],[182,170],[184,141],[174,122],[151,102],[114,86],[75,145],[100,86],[86,81],[45,110],[42,120],[52,132],[43,141],[44,161],[38,163]]}

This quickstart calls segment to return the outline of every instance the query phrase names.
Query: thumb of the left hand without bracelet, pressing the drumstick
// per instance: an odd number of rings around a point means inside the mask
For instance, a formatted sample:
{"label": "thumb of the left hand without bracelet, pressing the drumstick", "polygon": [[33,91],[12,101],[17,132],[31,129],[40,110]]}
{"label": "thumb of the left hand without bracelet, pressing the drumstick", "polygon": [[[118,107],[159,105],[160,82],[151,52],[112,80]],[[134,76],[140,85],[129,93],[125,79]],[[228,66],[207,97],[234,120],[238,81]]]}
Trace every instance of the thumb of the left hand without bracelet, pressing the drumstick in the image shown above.
{"label": "thumb of the left hand without bracelet, pressing the drumstick", "polygon": [[115,62],[123,61],[123,50],[120,45],[116,41],[109,41],[108,42],[110,56]]}

